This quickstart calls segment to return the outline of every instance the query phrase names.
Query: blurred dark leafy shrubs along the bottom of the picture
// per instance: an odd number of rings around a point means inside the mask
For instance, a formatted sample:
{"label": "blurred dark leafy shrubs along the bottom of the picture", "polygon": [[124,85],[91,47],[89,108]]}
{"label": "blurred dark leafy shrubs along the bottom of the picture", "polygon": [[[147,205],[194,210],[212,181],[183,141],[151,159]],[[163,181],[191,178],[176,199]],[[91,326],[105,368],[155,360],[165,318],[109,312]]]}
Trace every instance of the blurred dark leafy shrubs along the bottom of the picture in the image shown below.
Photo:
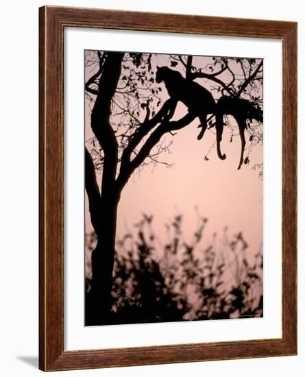
{"label": "blurred dark leafy shrubs along the bottom of the picture", "polygon": [[[125,234],[117,241],[108,324],[263,315],[262,252],[249,265],[248,245],[241,233],[225,241],[226,252],[217,250],[216,234],[203,247],[208,219],[199,220],[191,243],[182,237],[182,215],[167,224],[169,242],[164,245],[154,233],[153,217],[147,215],[135,225],[136,236]],[[87,237],[89,250],[95,242],[93,232]],[[86,278],[88,291],[90,277]]]}

